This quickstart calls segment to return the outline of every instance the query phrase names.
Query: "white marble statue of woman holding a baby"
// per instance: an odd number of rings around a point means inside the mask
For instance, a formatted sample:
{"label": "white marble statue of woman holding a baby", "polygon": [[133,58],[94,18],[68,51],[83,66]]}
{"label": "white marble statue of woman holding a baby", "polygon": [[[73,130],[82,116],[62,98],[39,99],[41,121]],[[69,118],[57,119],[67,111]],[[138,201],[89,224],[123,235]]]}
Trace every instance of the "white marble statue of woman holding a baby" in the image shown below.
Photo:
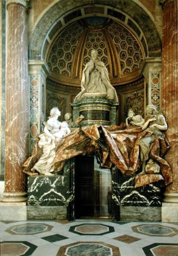
{"label": "white marble statue of woman holding a baby", "polygon": [[57,107],[52,108],[50,116],[47,122],[44,122],[44,132],[39,135],[38,146],[42,148],[43,154],[41,155],[38,162],[32,167],[31,171],[38,171],[40,174],[52,176],[54,171],[53,161],[55,158],[55,147],[56,143],[59,142],[64,135],[70,133],[68,124],[66,121],[58,121],[61,112]]}

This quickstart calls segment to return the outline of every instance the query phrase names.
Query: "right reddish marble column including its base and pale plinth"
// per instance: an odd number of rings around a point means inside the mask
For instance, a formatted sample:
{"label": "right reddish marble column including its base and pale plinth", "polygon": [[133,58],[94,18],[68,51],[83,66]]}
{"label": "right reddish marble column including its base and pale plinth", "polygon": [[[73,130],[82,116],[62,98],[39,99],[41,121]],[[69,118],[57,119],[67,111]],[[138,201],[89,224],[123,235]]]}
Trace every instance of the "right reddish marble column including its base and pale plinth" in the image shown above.
{"label": "right reddish marble column including its base and pale plinth", "polygon": [[[178,221],[178,1],[162,0],[162,88],[161,111],[168,123],[170,150],[166,156],[173,183],[167,186],[163,203],[163,221]],[[166,209],[167,208],[167,209]]]}

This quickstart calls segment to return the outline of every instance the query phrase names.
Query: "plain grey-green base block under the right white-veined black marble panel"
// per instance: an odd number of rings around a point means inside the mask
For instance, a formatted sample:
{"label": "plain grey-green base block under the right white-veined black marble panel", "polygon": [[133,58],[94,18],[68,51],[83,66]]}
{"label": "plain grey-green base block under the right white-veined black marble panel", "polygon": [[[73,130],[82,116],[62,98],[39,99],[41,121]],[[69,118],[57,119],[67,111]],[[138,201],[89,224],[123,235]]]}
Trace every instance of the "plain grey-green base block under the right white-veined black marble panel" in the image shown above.
{"label": "plain grey-green base block under the right white-veined black marble panel", "polygon": [[161,221],[161,207],[120,206],[120,221]]}

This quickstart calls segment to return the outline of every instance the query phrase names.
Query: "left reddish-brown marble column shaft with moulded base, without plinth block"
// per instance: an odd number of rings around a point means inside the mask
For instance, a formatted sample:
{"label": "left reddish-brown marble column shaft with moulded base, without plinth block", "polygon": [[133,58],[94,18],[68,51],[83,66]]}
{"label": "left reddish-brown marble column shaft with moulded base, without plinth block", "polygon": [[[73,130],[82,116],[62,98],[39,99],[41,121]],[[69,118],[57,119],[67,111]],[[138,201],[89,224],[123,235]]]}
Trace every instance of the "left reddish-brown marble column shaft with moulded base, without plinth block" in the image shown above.
{"label": "left reddish-brown marble column shaft with moulded base, without plinth block", "polygon": [[28,0],[6,0],[8,38],[6,63],[5,190],[3,202],[26,201],[25,174],[29,138]]}

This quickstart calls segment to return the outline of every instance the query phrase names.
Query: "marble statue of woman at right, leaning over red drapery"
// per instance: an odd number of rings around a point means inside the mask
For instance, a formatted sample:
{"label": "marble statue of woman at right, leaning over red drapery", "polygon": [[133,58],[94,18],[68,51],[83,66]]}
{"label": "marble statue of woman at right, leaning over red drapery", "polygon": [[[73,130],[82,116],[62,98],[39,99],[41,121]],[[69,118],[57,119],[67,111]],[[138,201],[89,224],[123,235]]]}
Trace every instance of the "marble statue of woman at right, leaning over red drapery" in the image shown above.
{"label": "marble statue of woman at right, leaning over red drapery", "polygon": [[167,123],[165,117],[157,111],[156,106],[149,104],[146,106],[145,123],[142,126],[142,131],[151,132],[151,136],[140,139],[140,157],[142,160],[142,172],[145,174],[146,160],[149,158],[152,142],[156,138],[165,138],[163,131],[167,131]]}

